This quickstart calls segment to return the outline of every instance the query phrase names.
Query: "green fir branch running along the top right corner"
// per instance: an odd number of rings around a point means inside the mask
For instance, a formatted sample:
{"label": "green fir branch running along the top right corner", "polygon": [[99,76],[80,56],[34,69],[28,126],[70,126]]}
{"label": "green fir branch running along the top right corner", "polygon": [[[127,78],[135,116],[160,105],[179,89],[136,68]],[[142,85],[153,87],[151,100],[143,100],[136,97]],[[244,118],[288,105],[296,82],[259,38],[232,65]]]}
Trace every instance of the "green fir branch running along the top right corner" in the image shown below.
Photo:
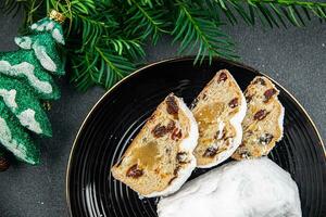
{"label": "green fir branch running along the top right corner", "polygon": [[[216,13],[216,5],[222,11],[230,24],[237,24],[238,13],[249,25],[254,25],[259,18],[263,26],[287,27],[285,21],[294,26],[304,26],[305,21],[310,21],[310,13],[321,21],[326,21],[326,3],[304,2],[296,0],[208,0],[211,13]],[[247,5],[247,9],[244,8]],[[218,13],[218,12],[217,12]],[[304,15],[303,15],[304,14]]]}

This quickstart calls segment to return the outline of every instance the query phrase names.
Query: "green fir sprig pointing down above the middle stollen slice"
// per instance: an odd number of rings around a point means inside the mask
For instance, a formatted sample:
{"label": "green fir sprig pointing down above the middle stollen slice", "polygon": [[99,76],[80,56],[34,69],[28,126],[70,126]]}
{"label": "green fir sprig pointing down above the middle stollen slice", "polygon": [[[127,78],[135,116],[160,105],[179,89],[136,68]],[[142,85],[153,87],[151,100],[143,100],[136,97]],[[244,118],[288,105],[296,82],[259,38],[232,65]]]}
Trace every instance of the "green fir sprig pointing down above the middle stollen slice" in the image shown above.
{"label": "green fir sprig pointing down above the middle stollen slice", "polygon": [[198,46],[195,60],[202,62],[204,55],[209,55],[210,61],[213,56],[225,56],[234,59],[234,43],[230,38],[221,31],[216,22],[205,16],[203,11],[191,9],[186,2],[177,1],[179,8],[178,18],[172,35],[174,41],[180,40],[179,52],[192,52]]}

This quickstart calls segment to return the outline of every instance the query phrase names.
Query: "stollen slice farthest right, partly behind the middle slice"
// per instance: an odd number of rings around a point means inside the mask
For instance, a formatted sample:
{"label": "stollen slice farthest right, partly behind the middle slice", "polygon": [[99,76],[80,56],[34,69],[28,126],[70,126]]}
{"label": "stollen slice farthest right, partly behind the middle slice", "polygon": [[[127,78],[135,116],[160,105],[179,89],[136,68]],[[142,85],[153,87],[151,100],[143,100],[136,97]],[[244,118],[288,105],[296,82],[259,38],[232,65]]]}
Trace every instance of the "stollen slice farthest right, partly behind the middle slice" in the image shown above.
{"label": "stollen slice farthest right, partly behind the middle slice", "polygon": [[244,91],[247,114],[242,122],[243,138],[233,158],[267,155],[283,137],[284,107],[279,91],[266,77],[258,76]]}

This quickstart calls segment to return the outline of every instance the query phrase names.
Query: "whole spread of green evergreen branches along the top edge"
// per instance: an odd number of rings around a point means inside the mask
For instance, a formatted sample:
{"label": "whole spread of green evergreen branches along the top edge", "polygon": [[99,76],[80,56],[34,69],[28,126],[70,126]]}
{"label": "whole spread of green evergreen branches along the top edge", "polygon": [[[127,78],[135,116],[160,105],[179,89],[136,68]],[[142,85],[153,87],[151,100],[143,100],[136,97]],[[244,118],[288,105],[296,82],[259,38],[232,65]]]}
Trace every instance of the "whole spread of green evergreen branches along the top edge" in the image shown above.
{"label": "whole spread of green evergreen branches along the top edge", "polygon": [[[146,56],[143,46],[162,35],[179,42],[180,53],[237,58],[222,25],[304,26],[326,21],[326,3],[299,0],[5,0],[9,12],[25,12],[25,25],[57,9],[67,18],[66,51],[77,89],[106,89],[128,75]],[[70,71],[67,71],[70,72]]]}

